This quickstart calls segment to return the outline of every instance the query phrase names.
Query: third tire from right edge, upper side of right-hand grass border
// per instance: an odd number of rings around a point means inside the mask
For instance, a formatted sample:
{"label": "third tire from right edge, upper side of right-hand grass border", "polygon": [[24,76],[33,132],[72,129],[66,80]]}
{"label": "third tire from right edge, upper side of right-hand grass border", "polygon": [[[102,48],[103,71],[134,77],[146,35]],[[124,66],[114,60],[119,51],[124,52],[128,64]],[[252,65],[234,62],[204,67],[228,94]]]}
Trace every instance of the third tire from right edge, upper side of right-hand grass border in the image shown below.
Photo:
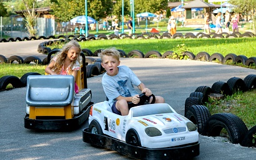
{"label": "third tire from right edge, upper side of right-hand grass border", "polygon": [[230,88],[229,88],[229,84],[221,81],[215,82],[212,85],[212,92],[219,93],[225,96],[232,95],[232,92],[230,91]]}

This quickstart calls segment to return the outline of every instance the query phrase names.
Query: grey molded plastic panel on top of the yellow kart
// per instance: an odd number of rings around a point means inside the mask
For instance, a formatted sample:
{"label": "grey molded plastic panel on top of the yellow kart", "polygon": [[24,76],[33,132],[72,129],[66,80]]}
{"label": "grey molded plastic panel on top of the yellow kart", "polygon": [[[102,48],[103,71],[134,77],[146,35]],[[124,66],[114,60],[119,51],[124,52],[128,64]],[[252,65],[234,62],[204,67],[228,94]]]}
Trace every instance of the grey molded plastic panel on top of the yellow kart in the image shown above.
{"label": "grey molded plastic panel on top of the yellow kart", "polygon": [[67,106],[74,98],[72,75],[31,75],[27,77],[29,106]]}

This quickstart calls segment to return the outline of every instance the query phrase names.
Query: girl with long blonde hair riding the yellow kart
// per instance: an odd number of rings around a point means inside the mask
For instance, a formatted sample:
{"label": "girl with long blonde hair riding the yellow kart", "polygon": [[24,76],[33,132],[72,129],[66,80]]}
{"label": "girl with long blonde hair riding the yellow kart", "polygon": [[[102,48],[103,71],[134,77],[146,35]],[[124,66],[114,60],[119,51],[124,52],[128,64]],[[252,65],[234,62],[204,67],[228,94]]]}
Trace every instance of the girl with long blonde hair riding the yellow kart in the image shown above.
{"label": "girl with long blonde hair riding the yellow kart", "polygon": [[[80,70],[79,55],[81,52],[80,45],[76,40],[69,41],[55,55],[50,64],[46,67],[45,72],[49,75],[73,75],[76,80],[77,72]],[[75,92],[79,92],[79,88],[75,83]]]}

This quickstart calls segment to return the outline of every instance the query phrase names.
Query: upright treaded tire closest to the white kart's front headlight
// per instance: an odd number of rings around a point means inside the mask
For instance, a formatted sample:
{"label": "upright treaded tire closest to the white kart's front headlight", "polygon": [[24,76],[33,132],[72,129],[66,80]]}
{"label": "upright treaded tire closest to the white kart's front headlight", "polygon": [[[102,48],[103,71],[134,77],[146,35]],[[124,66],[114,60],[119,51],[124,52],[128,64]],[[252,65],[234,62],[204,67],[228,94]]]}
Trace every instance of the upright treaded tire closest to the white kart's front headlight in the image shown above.
{"label": "upright treaded tire closest to the white kart's front headlight", "polygon": [[185,117],[197,125],[197,131],[202,134],[205,123],[210,118],[210,111],[206,106],[192,105],[187,109]]}

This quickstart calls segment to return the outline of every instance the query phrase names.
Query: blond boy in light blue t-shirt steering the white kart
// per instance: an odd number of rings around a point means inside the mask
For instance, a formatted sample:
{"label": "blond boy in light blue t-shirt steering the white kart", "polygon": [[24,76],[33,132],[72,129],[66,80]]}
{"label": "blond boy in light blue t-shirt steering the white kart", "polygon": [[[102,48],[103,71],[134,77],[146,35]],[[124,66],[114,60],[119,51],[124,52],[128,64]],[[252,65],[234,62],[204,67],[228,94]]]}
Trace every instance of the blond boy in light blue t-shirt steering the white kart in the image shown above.
{"label": "blond boy in light blue t-shirt steering the white kart", "polygon": [[[106,73],[102,77],[102,86],[113,113],[125,116],[129,113],[128,102],[132,102],[134,106],[140,101],[139,94],[133,85],[137,86],[146,96],[151,96],[152,92],[145,87],[144,83],[140,82],[129,67],[119,66],[119,54],[116,49],[106,49],[101,52],[101,65],[106,69]],[[150,103],[152,99],[153,97],[150,97]],[[164,103],[164,98],[155,96],[155,103]]]}

